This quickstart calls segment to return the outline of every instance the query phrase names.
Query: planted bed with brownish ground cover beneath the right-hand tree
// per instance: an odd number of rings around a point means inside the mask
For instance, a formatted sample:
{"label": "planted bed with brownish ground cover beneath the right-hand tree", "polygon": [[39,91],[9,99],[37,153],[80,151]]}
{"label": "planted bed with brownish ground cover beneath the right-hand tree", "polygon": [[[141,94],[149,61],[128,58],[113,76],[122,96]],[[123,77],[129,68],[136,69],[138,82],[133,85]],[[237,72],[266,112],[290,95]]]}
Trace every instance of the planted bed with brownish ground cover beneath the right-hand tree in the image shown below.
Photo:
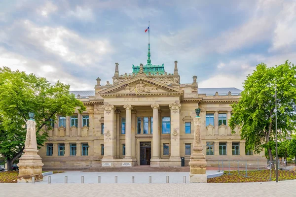
{"label": "planted bed with brownish ground cover beneath the right-hand tree", "polygon": [[[250,170],[246,171],[224,171],[219,177],[207,179],[208,183],[246,183],[246,182],[266,182],[270,180],[270,171],[267,170]],[[279,180],[296,179],[296,172],[288,170],[279,170]],[[275,170],[271,170],[271,181],[275,181]]]}

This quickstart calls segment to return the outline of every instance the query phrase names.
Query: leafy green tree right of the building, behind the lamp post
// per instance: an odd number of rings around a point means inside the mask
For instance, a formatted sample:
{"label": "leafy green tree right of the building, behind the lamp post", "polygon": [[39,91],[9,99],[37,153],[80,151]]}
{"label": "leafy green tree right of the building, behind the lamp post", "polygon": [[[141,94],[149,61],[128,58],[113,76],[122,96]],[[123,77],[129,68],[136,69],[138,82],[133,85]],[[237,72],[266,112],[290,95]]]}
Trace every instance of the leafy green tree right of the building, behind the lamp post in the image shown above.
{"label": "leafy green tree right of the building, behind the lamp post", "polygon": [[247,76],[238,103],[232,105],[230,118],[232,130],[241,127],[241,138],[246,148],[256,153],[267,148],[269,160],[273,160],[271,141],[275,139],[275,80],[277,81],[278,129],[285,136],[296,126],[296,66],[285,64],[267,67],[261,63]]}

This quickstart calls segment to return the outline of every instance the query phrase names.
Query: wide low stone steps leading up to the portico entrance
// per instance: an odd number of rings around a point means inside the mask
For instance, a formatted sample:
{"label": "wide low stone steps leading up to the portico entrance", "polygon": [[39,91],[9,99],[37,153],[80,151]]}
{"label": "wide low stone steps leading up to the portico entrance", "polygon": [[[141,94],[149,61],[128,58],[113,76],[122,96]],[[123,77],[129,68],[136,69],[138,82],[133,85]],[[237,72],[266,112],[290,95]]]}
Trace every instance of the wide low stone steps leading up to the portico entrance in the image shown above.
{"label": "wide low stone steps leading up to the portico entrance", "polygon": [[90,167],[83,172],[189,172],[189,166],[186,167]]}

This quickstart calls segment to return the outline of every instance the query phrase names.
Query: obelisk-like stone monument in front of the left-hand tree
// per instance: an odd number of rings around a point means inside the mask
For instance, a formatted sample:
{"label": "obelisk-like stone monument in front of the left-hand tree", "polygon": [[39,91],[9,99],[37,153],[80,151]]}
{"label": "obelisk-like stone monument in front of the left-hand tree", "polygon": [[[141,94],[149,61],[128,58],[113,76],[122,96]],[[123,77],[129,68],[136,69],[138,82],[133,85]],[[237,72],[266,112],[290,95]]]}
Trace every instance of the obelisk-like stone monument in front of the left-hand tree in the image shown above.
{"label": "obelisk-like stone monument in front of the left-hand tree", "polygon": [[37,155],[37,140],[36,140],[36,122],[34,121],[34,113],[29,113],[30,120],[27,121],[27,135],[25,149],[19,166],[19,175],[17,177],[18,183],[32,183],[32,177],[35,181],[42,181],[42,161]]}

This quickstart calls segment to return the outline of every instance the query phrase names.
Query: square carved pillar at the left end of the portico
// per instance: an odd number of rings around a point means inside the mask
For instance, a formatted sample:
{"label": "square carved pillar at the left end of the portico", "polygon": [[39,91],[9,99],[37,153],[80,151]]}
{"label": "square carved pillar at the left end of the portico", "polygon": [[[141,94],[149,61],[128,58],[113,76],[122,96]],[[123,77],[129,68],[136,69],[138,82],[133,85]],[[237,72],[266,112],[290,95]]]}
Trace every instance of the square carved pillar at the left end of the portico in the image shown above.
{"label": "square carved pillar at the left end of the portico", "polygon": [[[104,105],[104,157],[102,163],[111,163],[113,166],[113,158],[116,154],[115,151],[115,142],[116,142],[116,133],[114,128],[114,106],[107,103]],[[103,165],[102,164],[102,165]]]}

